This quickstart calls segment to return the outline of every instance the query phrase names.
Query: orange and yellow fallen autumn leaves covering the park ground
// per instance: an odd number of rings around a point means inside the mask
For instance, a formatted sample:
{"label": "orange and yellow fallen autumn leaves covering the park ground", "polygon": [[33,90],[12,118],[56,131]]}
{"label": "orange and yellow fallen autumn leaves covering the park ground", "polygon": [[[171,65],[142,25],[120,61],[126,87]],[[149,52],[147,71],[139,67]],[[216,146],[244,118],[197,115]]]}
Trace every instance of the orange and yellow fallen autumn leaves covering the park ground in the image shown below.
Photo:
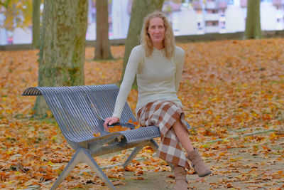
{"label": "orange and yellow fallen autumn leaves covering the park ground", "polygon": [[[186,120],[196,127],[192,142],[213,171],[204,179],[188,171],[190,188],[284,188],[283,39],[178,46],[186,56],[179,97]],[[124,46],[113,46],[111,51],[115,60],[97,62],[92,60],[94,49],[86,49],[85,85],[119,84]],[[35,97],[21,96],[23,90],[37,85],[37,54],[1,52],[1,189],[49,189],[74,154],[53,119],[31,119]],[[133,110],[136,95],[136,90],[131,90],[128,101]],[[167,174],[161,180],[173,187],[173,176],[167,173],[170,167],[152,157],[155,152],[150,148],[143,149],[124,170],[119,163],[129,152],[95,158],[116,187],[124,189],[133,181],[139,184],[153,174]],[[118,166],[107,167],[115,164]],[[61,188],[107,189],[103,185],[86,164],[80,164]]]}

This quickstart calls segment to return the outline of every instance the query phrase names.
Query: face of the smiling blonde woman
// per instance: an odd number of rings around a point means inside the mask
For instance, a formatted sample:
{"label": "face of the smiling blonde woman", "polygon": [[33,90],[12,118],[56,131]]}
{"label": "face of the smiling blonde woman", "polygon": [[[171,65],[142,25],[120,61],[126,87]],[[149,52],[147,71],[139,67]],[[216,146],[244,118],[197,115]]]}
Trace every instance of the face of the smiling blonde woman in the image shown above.
{"label": "face of the smiling blonde woman", "polygon": [[156,45],[163,45],[163,40],[165,37],[165,26],[163,19],[160,19],[159,17],[151,19],[147,33],[150,35],[154,47]]}

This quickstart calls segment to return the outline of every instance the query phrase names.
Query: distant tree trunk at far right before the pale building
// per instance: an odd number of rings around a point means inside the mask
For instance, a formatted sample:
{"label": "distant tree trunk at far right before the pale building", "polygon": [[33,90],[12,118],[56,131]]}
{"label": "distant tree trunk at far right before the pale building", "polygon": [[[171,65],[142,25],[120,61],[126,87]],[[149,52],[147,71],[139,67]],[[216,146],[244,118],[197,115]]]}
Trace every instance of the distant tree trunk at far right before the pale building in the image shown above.
{"label": "distant tree trunk at far right before the pale building", "polygon": [[260,6],[260,0],[248,0],[246,31],[244,33],[246,39],[262,38]]}

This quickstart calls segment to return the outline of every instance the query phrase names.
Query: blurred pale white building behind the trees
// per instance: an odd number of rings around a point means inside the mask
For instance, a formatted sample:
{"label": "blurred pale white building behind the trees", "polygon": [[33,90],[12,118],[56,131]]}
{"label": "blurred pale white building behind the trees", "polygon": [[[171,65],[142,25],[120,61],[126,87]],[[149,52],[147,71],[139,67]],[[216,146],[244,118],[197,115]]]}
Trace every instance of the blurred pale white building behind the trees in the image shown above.
{"label": "blurred pale white building behind the trees", "polygon": [[[126,38],[133,0],[109,1],[109,38]],[[175,36],[234,33],[245,30],[247,0],[166,0],[163,12]],[[41,7],[43,9],[43,7]],[[0,22],[5,17],[0,15]],[[263,31],[284,29],[284,0],[261,0]],[[31,27],[0,29],[0,45],[31,43]],[[89,0],[87,40],[96,39],[95,1]]]}

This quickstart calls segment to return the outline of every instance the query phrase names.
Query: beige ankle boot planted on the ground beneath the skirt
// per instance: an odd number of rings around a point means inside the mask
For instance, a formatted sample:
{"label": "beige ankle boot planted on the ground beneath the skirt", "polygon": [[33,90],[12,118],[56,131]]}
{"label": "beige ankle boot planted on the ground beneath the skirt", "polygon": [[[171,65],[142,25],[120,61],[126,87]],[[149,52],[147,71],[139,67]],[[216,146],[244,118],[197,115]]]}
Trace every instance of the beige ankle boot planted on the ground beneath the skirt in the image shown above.
{"label": "beige ankle boot planted on the ground beneath the skirt", "polygon": [[186,171],[184,167],[174,166],[175,190],[187,190]]}

